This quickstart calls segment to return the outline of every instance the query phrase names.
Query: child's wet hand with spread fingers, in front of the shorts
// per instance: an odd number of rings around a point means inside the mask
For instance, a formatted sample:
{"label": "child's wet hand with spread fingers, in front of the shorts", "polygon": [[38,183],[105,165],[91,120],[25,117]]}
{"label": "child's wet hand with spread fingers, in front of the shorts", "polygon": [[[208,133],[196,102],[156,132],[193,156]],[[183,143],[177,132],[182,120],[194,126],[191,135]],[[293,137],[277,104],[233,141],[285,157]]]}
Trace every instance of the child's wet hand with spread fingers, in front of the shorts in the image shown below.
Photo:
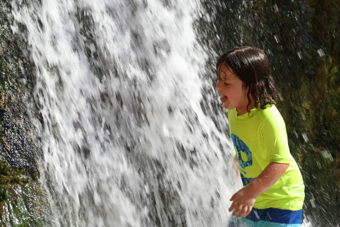
{"label": "child's wet hand with spread fingers, in front of the shorts", "polygon": [[253,195],[253,193],[247,191],[246,187],[242,188],[230,199],[230,201],[233,201],[233,203],[229,208],[229,212],[236,208],[233,216],[235,217],[238,215],[238,218],[245,217],[252,211],[255,199],[256,197]]}

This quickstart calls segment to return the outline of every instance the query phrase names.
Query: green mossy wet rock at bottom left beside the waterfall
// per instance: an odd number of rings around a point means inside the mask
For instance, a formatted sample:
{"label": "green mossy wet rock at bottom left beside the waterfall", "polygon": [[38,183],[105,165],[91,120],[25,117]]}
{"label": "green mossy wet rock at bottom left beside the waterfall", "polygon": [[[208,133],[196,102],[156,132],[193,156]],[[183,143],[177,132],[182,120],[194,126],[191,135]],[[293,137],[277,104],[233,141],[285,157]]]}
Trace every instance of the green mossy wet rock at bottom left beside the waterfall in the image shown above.
{"label": "green mossy wet rock at bottom left beside the waterfall", "polygon": [[0,162],[0,224],[50,226],[50,208],[36,173]]}

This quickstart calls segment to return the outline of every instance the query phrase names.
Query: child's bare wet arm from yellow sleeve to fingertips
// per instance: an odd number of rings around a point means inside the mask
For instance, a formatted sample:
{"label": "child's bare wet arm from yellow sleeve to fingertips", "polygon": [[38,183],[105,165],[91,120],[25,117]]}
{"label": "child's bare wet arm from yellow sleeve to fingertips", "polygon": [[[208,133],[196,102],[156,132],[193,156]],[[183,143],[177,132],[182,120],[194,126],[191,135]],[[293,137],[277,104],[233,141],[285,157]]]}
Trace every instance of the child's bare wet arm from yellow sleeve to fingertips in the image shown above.
{"label": "child's bare wet arm from yellow sleeve to fingertips", "polygon": [[238,218],[247,216],[253,206],[257,196],[261,195],[269,189],[280,177],[285,173],[289,164],[271,162],[263,169],[252,182],[236,192],[230,201],[233,201],[229,212],[236,208],[233,216],[238,215]]}

